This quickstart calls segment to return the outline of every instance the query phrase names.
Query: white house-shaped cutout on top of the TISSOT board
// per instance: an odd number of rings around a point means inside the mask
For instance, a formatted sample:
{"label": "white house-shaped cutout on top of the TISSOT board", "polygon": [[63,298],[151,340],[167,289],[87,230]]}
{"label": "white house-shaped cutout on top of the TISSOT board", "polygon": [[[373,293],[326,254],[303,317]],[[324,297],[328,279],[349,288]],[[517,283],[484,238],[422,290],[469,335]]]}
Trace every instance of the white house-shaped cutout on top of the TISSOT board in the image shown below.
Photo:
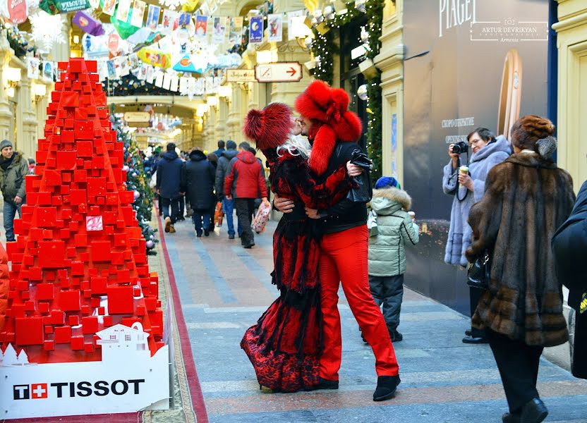
{"label": "white house-shaped cutout on top of the TISSOT board", "polygon": [[149,333],[143,332],[143,325],[136,322],[132,327],[116,324],[96,333],[97,344],[102,346],[102,362],[129,359],[149,359],[151,353],[147,345]]}

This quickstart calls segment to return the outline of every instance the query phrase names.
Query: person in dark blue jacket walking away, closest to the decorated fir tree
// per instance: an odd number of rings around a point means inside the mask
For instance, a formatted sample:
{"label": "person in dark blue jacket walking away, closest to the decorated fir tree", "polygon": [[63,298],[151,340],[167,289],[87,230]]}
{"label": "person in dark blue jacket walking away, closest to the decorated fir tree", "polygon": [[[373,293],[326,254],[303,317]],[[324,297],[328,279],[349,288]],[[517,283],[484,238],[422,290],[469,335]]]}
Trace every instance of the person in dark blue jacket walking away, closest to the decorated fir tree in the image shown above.
{"label": "person in dark blue jacket walking away, closest to the decorated fir tree", "polygon": [[[162,198],[165,232],[175,233],[175,222],[179,217],[179,199],[181,197],[181,168],[183,161],[175,152],[175,144],[169,142],[167,153],[157,164],[157,191]],[[171,207],[171,214],[169,208]]]}

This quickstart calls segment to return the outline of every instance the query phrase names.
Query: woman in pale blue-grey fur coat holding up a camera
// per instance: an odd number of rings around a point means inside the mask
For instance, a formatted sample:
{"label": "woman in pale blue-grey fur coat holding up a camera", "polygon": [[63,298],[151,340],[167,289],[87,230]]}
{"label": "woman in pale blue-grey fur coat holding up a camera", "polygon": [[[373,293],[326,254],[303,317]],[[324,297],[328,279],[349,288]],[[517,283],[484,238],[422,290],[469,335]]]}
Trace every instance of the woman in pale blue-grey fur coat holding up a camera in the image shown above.
{"label": "woman in pale blue-grey fur coat holding up a camera", "polygon": [[[480,201],[485,192],[485,178],[491,168],[509,157],[512,149],[503,135],[495,138],[487,128],[477,128],[467,135],[464,142],[449,145],[450,161],[444,166],[442,189],[445,194],[454,195],[450,213],[449,237],[444,254],[444,262],[466,266],[468,261],[465,251],[471,245],[471,226],[468,225],[468,213],[471,206]],[[461,154],[468,154],[471,147],[471,163],[461,166]],[[470,288],[471,315],[475,312],[480,289]],[[465,332],[464,343],[485,343],[485,334],[479,329]]]}

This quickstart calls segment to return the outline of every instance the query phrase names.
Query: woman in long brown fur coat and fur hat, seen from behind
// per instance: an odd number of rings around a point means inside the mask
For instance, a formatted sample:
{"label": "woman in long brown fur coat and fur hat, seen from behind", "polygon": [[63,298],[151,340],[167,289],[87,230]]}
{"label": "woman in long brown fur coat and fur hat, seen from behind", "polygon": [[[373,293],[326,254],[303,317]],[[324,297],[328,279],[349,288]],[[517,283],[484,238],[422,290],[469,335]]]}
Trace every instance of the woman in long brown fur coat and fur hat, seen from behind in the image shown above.
{"label": "woman in long brown fur coat and fur hat, seen from behind", "polygon": [[550,239],[573,209],[571,176],[552,161],[555,125],[524,116],[512,126],[514,154],[490,171],[471,208],[470,262],[490,252],[491,277],[473,326],[485,329],[509,405],[503,422],[539,423],[547,409],[536,391],[544,347],[567,342],[562,288]]}

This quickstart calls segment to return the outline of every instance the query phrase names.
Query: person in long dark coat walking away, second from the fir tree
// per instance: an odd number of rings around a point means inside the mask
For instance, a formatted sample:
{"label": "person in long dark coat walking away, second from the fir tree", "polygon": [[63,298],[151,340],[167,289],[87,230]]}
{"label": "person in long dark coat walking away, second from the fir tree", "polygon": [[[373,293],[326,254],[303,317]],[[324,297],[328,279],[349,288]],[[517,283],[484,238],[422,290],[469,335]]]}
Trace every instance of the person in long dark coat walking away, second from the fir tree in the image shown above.
{"label": "person in long dark coat walking away, second from the fir tree", "polygon": [[202,219],[204,235],[210,235],[210,210],[214,205],[214,166],[199,149],[190,153],[190,161],[183,166],[181,189],[186,192],[193,210],[192,220],[196,236],[202,236]]}

